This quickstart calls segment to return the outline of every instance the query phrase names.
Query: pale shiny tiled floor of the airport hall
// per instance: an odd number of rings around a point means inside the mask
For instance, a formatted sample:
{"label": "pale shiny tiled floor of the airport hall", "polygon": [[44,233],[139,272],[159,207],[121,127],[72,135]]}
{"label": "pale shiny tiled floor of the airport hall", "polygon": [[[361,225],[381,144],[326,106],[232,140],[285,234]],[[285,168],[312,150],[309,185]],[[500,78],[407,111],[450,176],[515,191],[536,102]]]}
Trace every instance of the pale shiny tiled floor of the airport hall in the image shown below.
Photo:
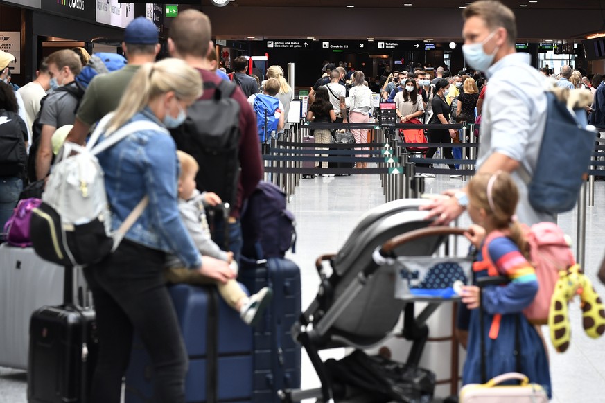
{"label": "pale shiny tiled floor of the airport hall", "polygon": [[[426,192],[439,193],[446,188],[462,187],[460,179],[427,179]],[[597,206],[588,207],[586,214],[586,272],[597,292],[605,296],[605,287],[595,272],[605,248],[605,183],[597,182]],[[369,208],[384,202],[377,176],[316,177],[303,179],[290,200],[290,209],[297,217],[297,253],[289,256],[301,268],[302,305],[305,308],[317,292],[319,278],[314,260],[322,253],[336,252],[349,236],[358,218]],[[468,225],[462,217],[459,224]],[[575,239],[577,213],[559,217],[559,224]],[[593,340],[581,327],[578,303],[572,304],[572,343],[568,352],[550,351],[553,402],[605,402],[605,339]],[[547,332],[547,328],[544,328]],[[322,352],[322,357],[342,357],[343,349]],[[441,363],[440,363],[441,364]],[[447,364],[447,358],[443,359]],[[305,388],[319,386],[317,376],[303,352]],[[0,403],[26,402],[26,377],[23,372],[0,368]]]}

